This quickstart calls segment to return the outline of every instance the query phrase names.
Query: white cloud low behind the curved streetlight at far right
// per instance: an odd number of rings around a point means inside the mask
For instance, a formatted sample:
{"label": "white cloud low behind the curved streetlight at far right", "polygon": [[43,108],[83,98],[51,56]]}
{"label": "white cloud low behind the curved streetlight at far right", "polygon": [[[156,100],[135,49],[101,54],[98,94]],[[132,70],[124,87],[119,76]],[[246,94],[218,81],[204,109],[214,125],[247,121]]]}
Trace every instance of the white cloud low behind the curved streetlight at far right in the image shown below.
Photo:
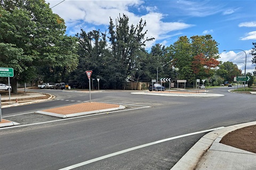
{"label": "white cloud low behind the curved streetlight at far right", "polygon": [[241,51],[238,53],[235,53],[233,50],[230,50],[229,52],[223,52],[220,54],[220,58],[218,58],[218,61],[233,62],[238,66],[238,69],[241,69],[242,73],[244,73],[245,53],[246,53],[246,73],[247,72],[252,73],[255,67],[252,64],[253,56],[250,54],[251,50],[244,50],[244,52]]}

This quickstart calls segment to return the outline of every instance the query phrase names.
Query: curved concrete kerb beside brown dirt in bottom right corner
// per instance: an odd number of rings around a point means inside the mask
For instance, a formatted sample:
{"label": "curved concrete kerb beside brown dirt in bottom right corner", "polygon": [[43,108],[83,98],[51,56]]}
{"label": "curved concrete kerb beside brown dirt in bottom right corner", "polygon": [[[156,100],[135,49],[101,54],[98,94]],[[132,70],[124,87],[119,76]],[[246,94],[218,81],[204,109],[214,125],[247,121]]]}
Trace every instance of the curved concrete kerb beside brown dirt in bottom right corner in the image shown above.
{"label": "curved concrete kerb beside brown dirt in bottom right corner", "polygon": [[228,126],[205,134],[192,148],[188,150],[188,152],[171,168],[171,170],[195,169],[200,159],[207,150],[214,145],[214,143],[219,143],[220,140],[231,131],[251,125],[256,125],[256,121]]}

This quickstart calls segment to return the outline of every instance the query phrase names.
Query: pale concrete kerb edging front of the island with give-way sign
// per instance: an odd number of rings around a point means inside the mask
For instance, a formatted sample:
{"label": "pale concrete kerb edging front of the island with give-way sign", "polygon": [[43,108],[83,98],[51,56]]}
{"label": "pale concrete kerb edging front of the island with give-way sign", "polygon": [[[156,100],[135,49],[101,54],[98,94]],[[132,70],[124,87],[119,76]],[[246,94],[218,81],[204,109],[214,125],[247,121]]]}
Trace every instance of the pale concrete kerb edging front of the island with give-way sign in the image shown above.
{"label": "pale concrete kerb edging front of the island with give-way sign", "polygon": [[58,113],[43,112],[43,111],[37,111],[35,113],[49,115],[49,116],[55,116],[55,117],[60,117],[60,118],[69,118],[69,117],[77,117],[77,116],[83,116],[83,115],[116,111],[116,110],[124,109],[124,108],[125,108],[125,106],[119,105],[119,107],[115,107],[115,108],[101,109],[101,110],[95,110],[95,111],[90,111],[90,112],[72,113],[72,114],[66,114],[66,115],[58,114]]}

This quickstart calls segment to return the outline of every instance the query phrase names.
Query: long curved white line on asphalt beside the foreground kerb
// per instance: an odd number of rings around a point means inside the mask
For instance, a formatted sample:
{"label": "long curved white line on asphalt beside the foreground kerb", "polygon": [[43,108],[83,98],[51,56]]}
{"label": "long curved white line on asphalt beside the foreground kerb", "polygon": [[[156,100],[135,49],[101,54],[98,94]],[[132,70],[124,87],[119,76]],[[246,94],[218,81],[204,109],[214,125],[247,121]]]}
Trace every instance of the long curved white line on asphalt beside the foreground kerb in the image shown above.
{"label": "long curved white line on asphalt beside the foreground kerb", "polygon": [[218,129],[222,129],[222,128],[225,128],[225,127],[222,126],[222,127],[219,127],[219,128],[214,128],[214,129],[209,129],[209,130],[204,130],[204,131],[199,131],[199,132],[194,132],[194,133],[188,133],[188,134],[179,135],[177,137],[158,140],[158,141],[147,143],[147,144],[140,145],[140,146],[137,146],[137,147],[133,147],[133,148],[121,150],[121,151],[118,151],[118,152],[114,152],[113,154],[109,154],[109,155],[101,156],[101,157],[98,157],[98,158],[95,158],[95,159],[87,160],[85,162],[75,164],[75,165],[71,165],[71,166],[68,166],[68,167],[65,167],[65,168],[61,168],[59,170],[74,169],[74,168],[81,167],[81,166],[84,166],[84,165],[87,165],[87,164],[90,164],[90,163],[93,163],[93,162],[97,162],[97,161],[102,160],[102,159],[106,159],[106,158],[113,157],[113,156],[116,156],[116,155],[124,154],[125,152],[129,152],[129,151],[132,151],[132,150],[136,150],[136,149],[148,147],[148,146],[151,146],[151,145],[155,145],[157,143],[162,143],[162,142],[170,141],[170,140],[173,140],[173,139],[188,137],[188,136],[194,135],[194,134],[210,132],[210,131],[214,131],[214,130],[218,130]]}

